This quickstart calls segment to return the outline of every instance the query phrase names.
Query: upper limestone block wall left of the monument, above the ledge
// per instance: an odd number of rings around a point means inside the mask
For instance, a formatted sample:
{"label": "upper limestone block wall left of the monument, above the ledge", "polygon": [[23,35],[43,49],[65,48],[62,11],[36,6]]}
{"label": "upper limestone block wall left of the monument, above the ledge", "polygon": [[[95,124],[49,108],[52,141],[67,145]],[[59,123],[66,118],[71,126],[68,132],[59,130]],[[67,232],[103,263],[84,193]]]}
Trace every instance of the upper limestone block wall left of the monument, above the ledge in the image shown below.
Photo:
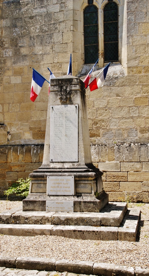
{"label": "upper limestone block wall left of the monument, above the ledge", "polygon": [[67,74],[72,8],[72,0],[14,0],[0,6],[0,144],[7,138],[12,144],[44,142],[49,84],[31,102],[32,67],[48,80],[47,67],[55,76]]}

